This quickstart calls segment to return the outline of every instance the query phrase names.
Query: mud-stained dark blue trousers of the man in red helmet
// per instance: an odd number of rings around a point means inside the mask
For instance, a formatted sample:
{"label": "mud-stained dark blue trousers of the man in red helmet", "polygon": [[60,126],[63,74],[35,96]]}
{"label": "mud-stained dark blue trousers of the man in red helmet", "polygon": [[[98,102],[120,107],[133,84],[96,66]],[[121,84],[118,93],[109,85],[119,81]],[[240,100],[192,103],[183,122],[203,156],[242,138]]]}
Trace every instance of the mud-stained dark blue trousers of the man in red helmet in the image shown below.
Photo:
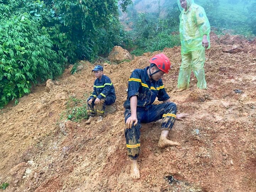
{"label": "mud-stained dark blue trousers of the man in red helmet", "polygon": [[[132,128],[124,129],[126,137],[127,154],[130,159],[137,159],[140,153],[140,128],[141,123],[150,123],[162,119],[161,130],[171,130],[176,118],[177,107],[175,103],[167,102],[159,105],[150,105],[147,108],[137,107],[138,123]],[[124,112],[125,122],[131,116],[131,110]]]}

